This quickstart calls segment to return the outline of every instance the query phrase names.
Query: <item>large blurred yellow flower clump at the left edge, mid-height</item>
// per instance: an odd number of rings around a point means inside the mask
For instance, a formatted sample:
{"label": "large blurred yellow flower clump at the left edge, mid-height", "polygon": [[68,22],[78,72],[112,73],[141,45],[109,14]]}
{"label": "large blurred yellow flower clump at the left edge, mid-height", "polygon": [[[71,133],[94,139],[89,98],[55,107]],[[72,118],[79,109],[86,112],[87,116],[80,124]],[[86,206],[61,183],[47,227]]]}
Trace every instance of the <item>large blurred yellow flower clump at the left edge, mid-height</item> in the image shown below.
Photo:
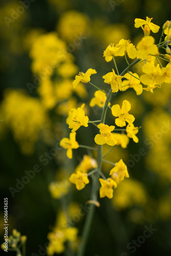
{"label": "large blurred yellow flower clump at the left edge, mid-height", "polygon": [[8,89],[1,104],[1,113],[22,152],[32,154],[34,143],[50,123],[44,105],[39,99],[27,95],[24,90]]}

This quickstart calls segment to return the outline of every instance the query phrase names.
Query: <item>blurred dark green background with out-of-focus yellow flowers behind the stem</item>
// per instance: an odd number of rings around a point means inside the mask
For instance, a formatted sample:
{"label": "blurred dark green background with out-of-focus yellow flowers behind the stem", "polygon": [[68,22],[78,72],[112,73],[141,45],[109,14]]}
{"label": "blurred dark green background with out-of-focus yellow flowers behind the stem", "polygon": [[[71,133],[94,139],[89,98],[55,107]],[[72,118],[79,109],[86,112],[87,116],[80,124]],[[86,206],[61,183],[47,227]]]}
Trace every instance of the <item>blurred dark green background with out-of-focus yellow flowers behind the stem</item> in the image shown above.
{"label": "blurred dark green background with out-of-focus yellow flowers behind the stem", "polygon": [[[17,9],[19,6],[23,6],[22,1],[0,3],[0,235],[3,242],[3,201],[8,197],[9,233],[16,228],[25,234],[27,255],[41,255],[39,248],[46,247],[47,234],[63,207],[63,201],[57,199],[59,191],[49,185],[55,180],[66,181],[87,154],[79,148],[73,159],[68,160],[65,150],[58,146],[59,140],[69,134],[65,123],[68,109],[85,102],[90,119],[98,120],[100,115],[98,107],[89,108],[94,88],[82,84],[73,90],[72,80],[79,71],[93,68],[97,74],[92,76],[92,82],[105,88],[102,76],[114,68],[112,62],[104,60],[105,48],[111,42],[117,44],[121,38],[131,39],[136,45],[143,33],[134,28],[134,19],[153,17],[153,22],[162,27],[170,20],[171,4],[166,0],[36,0],[29,2],[23,13],[16,14],[23,10]],[[160,33],[161,29],[154,35],[156,42]],[[53,60],[57,61],[55,69],[51,67]],[[124,59],[118,57],[116,61],[119,71],[123,71]],[[140,73],[140,67],[134,72]],[[137,96],[129,89],[113,95],[113,103],[121,104],[123,99],[131,102],[135,125],[142,129],[138,144],[130,140],[127,148],[117,146],[106,158],[115,162],[122,158],[130,165],[130,179],[120,183],[112,200],[100,200],[86,255],[132,255],[133,249],[127,248],[127,244],[137,240],[145,226],[150,225],[156,231],[133,254],[170,255],[170,95],[171,84],[163,84],[153,94],[144,91]],[[112,117],[107,121],[112,122]],[[81,127],[77,141],[91,145],[96,132],[95,127]],[[143,154],[139,154],[140,148]],[[40,172],[12,195],[9,187],[16,188],[25,171],[33,170],[35,165],[39,165]],[[103,165],[106,175],[110,168],[108,164]],[[90,198],[90,184],[77,191],[67,183],[66,189],[69,191],[65,197],[67,207],[70,205],[76,213]],[[83,223],[83,217],[74,221],[79,236]]]}

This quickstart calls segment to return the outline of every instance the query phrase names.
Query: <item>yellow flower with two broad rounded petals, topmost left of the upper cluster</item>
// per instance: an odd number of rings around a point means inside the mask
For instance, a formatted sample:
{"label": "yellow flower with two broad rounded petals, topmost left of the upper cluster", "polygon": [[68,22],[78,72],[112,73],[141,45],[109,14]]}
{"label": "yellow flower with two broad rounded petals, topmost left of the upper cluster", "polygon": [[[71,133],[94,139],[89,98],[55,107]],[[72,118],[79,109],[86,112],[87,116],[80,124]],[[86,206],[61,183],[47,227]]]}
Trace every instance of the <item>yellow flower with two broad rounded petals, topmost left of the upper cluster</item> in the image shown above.
{"label": "yellow flower with two broad rounded petals, topmost left of the upper cluster", "polygon": [[124,56],[125,53],[127,53],[131,59],[135,59],[137,57],[137,49],[131,41],[121,39],[115,47],[115,56]]}

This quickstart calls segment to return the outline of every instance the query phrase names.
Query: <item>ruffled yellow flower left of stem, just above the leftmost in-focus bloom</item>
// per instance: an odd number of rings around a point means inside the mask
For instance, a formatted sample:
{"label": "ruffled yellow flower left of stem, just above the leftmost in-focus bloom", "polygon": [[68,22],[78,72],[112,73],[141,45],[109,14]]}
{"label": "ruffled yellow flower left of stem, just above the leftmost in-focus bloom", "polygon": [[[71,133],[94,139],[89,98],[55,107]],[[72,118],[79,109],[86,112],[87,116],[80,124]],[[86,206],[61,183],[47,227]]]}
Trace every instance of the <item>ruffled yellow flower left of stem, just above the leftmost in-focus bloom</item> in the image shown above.
{"label": "ruffled yellow flower left of stem, just above the leftmost in-focus bloom", "polygon": [[71,109],[69,115],[66,119],[66,123],[69,125],[69,128],[72,129],[72,133],[76,132],[81,125],[88,127],[89,117],[85,116],[83,110],[85,104],[81,105],[81,108]]}

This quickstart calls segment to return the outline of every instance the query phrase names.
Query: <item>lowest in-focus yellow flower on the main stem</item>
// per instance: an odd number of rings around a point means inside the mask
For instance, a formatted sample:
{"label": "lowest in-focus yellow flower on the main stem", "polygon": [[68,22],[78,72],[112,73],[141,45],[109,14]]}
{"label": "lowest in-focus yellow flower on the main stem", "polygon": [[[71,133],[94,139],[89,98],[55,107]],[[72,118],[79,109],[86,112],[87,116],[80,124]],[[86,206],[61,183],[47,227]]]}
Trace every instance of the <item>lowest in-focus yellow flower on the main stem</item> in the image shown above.
{"label": "lowest in-focus yellow flower on the main stem", "polygon": [[111,179],[111,178],[108,178],[106,180],[103,180],[103,179],[99,179],[100,181],[100,184],[101,184],[101,187],[100,187],[100,190],[99,190],[99,193],[100,193],[100,198],[103,198],[103,197],[108,197],[109,199],[113,198],[113,187],[117,187],[117,183]]}

